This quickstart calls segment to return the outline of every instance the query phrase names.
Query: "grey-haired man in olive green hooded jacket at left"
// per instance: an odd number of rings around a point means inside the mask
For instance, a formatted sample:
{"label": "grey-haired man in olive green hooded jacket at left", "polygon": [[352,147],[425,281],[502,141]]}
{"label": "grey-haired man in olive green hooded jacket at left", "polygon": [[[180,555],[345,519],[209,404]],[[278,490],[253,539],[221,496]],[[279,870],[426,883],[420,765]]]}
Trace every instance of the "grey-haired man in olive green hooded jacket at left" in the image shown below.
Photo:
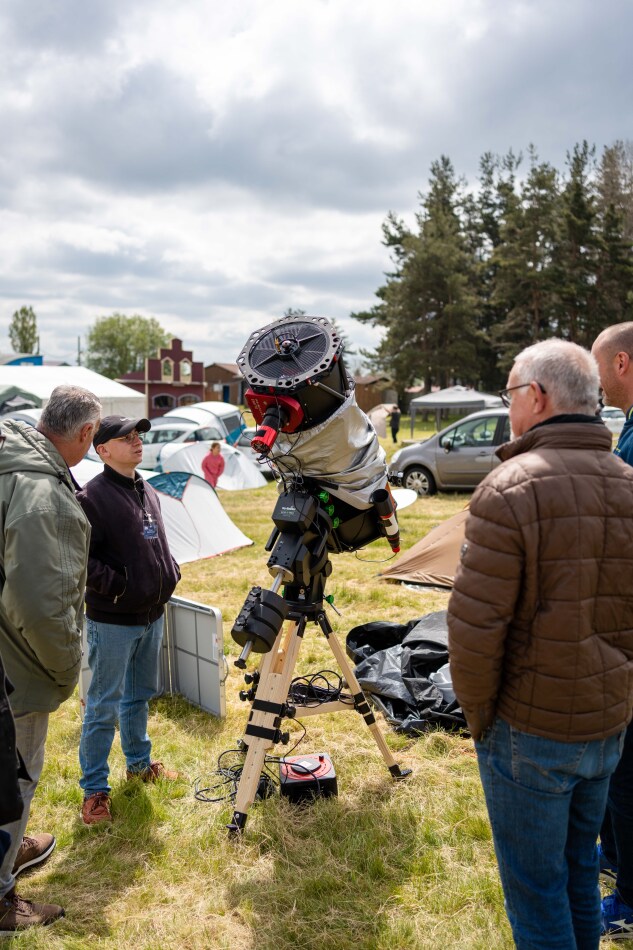
{"label": "grey-haired man in olive green hooded jacket at left", "polygon": [[69,467],[89,449],[100,415],[92,393],[58,386],[38,429],[0,425],[0,655],[15,687],[17,748],[29,776],[20,781],[22,817],[0,828],[11,838],[0,864],[0,936],[64,913],[56,904],[18,897],[15,877],[55,847],[52,835],[31,838],[24,831],[44,764],[49,713],[79,677],[90,526]]}

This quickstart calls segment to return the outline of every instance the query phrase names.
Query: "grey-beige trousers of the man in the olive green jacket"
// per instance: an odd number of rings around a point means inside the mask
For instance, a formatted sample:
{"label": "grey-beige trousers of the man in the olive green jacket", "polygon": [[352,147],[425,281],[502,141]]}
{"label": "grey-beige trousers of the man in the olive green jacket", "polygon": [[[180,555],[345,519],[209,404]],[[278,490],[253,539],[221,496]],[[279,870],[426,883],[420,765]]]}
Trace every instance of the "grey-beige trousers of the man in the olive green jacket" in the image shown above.
{"label": "grey-beige trousers of the man in the olive green jacket", "polygon": [[15,719],[16,745],[29,773],[29,779],[28,781],[20,779],[20,791],[24,802],[22,817],[1,829],[9,836],[11,842],[0,864],[0,897],[4,897],[15,886],[13,865],[26,831],[33,795],[44,768],[44,748],[48,732],[48,713],[19,712],[14,713],[13,718]]}

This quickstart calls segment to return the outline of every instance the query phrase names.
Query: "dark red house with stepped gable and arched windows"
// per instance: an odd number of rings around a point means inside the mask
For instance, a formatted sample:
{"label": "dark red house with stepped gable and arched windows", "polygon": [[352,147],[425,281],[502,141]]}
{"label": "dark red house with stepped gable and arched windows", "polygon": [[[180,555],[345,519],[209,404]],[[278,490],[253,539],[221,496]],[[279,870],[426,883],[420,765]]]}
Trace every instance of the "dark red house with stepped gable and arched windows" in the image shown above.
{"label": "dark red house with stepped gable and arched windows", "polygon": [[162,416],[168,409],[177,409],[205,397],[204,366],[194,362],[193,352],[183,350],[182,340],[174,338],[170,346],[161,347],[157,356],[145,359],[145,369],[126,373],[117,380],[139,393],[144,393],[149,418]]}

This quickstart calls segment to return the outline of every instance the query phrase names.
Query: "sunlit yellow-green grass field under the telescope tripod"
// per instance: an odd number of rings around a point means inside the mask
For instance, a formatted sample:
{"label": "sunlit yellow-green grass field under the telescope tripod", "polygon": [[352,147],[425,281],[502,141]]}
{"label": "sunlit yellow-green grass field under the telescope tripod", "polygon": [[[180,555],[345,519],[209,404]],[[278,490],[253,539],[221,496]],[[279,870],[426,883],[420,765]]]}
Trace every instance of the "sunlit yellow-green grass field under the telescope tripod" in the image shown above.
{"label": "sunlit yellow-green grass field under the telescope tripod", "polygon": [[[224,618],[227,716],[215,719],[180,698],[152,704],[155,756],[177,768],[176,783],[125,782],[118,738],[110,759],[112,827],[78,818],[79,704],[53,716],[47,761],[30,830],[56,834],[58,847],[19,892],[62,903],[67,916],[20,937],[22,948],[211,948],[211,950],[425,950],[512,946],[468,739],[433,732],[404,738],[382,722],[398,761],[413,770],[395,783],[354,712],[309,717],[298,752],[327,751],[339,795],[307,808],[278,796],[255,804],[246,831],[228,836],[230,802],[202,803],[196,781],[213,785],[218,756],[243,735],[247,707],[232,660],[232,622],[254,584],[268,587],[263,551],[275,487],[221,493],[254,545],[185,565],[177,593],[219,607]],[[420,499],[401,514],[403,548],[453,514],[467,496]],[[329,612],[343,642],[356,624],[408,621],[446,605],[445,593],[407,590],[376,578],[386,542],[333,557],[328,582],[342,616]],[[308,628],[297,673],[335,668],[318,629]],[[250,664],[254,665],[254,664]],[[293,734],[300,730],[294,726]]]}

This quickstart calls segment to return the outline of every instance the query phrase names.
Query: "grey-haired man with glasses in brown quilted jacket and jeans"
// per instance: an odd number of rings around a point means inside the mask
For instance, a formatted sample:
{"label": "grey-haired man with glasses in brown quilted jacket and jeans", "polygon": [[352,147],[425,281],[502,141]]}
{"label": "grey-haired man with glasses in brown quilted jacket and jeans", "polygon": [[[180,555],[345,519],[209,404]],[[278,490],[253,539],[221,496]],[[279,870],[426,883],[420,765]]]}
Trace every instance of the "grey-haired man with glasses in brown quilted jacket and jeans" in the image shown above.
{"label": "grey-haired man with glasses in brown quilted jacket and jeans", "polygon": [[519,948],[597,948],[596,838],[633,703],[633,470],[596,416],[595,360],[548,340],[502,396],[514,439],[475,492],[449,604]]}

